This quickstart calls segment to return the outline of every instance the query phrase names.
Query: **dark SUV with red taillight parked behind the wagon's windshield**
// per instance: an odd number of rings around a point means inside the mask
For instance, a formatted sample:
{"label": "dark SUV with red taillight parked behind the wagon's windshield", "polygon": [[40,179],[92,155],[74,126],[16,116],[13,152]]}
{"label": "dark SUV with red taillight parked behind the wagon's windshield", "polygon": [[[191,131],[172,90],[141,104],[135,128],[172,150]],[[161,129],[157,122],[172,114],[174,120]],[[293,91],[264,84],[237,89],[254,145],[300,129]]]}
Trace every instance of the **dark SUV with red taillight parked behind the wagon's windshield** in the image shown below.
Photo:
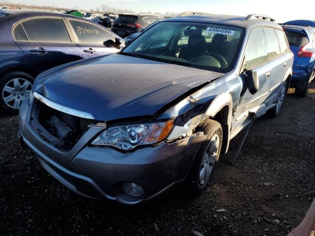
{"label": "dark SUV with red taillight parked behind the wagon's windshield", "polygon": [[140,32],[150,24],[163,19],[162,16],[152,14],[120,14],[112,22],[111,30],[121,37],[126,37],[131,33]]}

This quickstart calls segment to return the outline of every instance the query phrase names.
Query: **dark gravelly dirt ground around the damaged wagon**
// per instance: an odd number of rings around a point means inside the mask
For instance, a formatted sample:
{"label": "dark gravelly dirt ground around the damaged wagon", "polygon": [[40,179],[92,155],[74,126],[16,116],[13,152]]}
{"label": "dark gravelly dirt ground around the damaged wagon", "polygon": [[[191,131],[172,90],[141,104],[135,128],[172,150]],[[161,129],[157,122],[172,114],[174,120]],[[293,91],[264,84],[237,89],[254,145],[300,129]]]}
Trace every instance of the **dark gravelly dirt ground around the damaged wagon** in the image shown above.
{"label": "dark gravelly dirt ground around the damaged wagon", "polygon": [[[139,206],[80,197],[20,148],[17,116],[0,110],[0,235],[285,236],[315,197],[315,83],[259,118],[233,165],[221,160],[197,198],[175,189]],[[162,173],[161,173],[162,175]]]}

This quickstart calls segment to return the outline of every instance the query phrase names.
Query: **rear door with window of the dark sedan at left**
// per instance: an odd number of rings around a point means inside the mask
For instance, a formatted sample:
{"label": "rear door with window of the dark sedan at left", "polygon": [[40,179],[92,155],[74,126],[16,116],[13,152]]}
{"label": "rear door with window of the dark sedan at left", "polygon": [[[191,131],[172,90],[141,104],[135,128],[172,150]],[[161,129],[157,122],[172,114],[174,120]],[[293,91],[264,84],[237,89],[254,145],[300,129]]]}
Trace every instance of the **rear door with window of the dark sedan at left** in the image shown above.
{"label": "rear door with window of the dark sedan at left", "polygon": [[63,17],[35,17],[14,26],[16,44],[39,71],[82,59],[64,23]]}

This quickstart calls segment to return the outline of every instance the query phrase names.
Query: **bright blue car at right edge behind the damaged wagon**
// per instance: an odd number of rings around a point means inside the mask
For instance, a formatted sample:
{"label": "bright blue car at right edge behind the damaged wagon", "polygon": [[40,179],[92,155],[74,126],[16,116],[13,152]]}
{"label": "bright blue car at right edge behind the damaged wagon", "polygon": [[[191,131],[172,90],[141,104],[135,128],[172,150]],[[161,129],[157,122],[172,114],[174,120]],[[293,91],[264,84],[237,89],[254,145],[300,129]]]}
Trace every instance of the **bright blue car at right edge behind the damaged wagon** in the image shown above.
{"label": "bright blue car at right edge behind the damaged wagon", "polygon": [[290,87],[295,88],[296,95],[305,97],[315,78],[315,22],[288,21],[282,27],[294,53]]}

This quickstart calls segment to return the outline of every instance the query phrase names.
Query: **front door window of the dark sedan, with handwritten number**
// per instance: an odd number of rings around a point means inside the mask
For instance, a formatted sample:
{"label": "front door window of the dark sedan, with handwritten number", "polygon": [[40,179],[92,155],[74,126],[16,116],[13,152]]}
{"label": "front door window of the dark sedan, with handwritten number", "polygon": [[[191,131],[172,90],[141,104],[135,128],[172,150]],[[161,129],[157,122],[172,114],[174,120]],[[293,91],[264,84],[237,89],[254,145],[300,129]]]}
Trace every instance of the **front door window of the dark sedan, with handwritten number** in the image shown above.
{"label": "front door window of the dark sedan, with handwritten number", "polygon": [[111,33],[95,25],[85,23],[82,21],[72,20],[70,20],[70,23],[80,43],[103,44],[105,41],[109,39],[113,40],[113,36]]}

